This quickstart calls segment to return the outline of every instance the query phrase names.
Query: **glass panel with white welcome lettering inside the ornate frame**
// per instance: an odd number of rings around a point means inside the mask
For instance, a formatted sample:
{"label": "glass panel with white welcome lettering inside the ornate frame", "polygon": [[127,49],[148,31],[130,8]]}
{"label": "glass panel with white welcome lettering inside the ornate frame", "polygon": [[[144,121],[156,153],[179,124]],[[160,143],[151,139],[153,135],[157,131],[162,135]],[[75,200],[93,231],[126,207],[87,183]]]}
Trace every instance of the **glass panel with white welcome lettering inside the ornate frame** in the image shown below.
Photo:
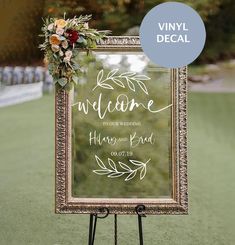
{"label": "glass panel with white welcome lettering inside the ornate frame", "polygon": [[72,104],[72,196],[171,197],[171,73],[143,53],[102,52]]}

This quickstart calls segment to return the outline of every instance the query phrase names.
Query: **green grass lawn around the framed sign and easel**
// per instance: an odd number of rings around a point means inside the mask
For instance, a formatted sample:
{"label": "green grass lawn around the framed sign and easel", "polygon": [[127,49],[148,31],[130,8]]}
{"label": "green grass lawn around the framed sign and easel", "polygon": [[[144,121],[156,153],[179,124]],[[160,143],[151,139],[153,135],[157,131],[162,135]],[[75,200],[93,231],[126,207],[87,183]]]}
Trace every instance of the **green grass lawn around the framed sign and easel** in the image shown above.
{"label": "green grass lawn around the framed sign and easel", "polygon": [[[0,245],[85,245],[89,216],[54,214],[54,99],[0,109]],[[146,245],[235,244],[235,94],[189,94],[189,215],[149,216]],[[119,245],[137,219],[119,216]],[[113,217],[96,245],[113,244]]]}

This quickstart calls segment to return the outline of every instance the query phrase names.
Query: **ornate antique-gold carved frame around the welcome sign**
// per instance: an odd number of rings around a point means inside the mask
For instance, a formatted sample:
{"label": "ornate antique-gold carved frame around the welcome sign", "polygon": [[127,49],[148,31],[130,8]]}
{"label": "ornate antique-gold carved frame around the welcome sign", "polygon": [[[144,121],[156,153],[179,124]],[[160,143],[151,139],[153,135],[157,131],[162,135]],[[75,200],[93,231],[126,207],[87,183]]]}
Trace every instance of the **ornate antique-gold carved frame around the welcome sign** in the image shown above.
{"label": "ornate antique-gold carved frame around the welcome sign", "polygon": [[[139,37],[112,36],[99,43],[96,51],[142,51]],[[57,89],[55,95],[55,212],[136,214],[146,206],[146,214],[187,214],[187,67],[172,69],[172,198],[101,199],[71,196],[71,93]]]}

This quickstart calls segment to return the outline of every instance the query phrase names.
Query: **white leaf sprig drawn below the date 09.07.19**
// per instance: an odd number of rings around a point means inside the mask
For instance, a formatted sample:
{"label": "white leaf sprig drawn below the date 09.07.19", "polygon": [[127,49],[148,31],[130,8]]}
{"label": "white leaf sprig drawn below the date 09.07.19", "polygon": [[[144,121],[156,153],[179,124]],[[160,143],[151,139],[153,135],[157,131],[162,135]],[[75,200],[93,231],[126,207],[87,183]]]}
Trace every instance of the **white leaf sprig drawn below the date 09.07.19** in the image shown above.
{"label": "white leaf sprig drawn below the date 09.07.19", "polygon": [[129,160],[132,167],[127,164],[118,161],[116,164],[111,158],[108,158],[107,166],[103,161],[95,155],[96,163],[100,169],[93,170],[93,173],[98,175],[107,175],[108,178],[117,178],[125,176],[125,181],[133,179],[139,172],[139,178],[142,180],[147,172],[147,163],[151,160],[148,159],[146,162],[141,162],[137,160]]}

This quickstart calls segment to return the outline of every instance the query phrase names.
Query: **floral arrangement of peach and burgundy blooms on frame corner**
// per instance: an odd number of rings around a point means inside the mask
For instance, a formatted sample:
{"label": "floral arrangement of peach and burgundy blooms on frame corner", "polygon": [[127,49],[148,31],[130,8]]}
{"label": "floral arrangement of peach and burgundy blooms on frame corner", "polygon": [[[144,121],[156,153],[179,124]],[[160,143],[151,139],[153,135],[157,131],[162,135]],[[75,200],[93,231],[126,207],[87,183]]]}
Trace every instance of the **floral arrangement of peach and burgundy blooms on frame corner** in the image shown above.
{"label": "floral arrangement of peach and burgundy blooms on frame corner", "polygon": [[45,41],[39,46],[45,52],[48,70],[56,85],[70,90],[77,84],[81,67],[76,57],[79,51],[96,48],[96,44],[110,31],[89,28],[91,15],[72,19],[47,18],[42,27]]}

